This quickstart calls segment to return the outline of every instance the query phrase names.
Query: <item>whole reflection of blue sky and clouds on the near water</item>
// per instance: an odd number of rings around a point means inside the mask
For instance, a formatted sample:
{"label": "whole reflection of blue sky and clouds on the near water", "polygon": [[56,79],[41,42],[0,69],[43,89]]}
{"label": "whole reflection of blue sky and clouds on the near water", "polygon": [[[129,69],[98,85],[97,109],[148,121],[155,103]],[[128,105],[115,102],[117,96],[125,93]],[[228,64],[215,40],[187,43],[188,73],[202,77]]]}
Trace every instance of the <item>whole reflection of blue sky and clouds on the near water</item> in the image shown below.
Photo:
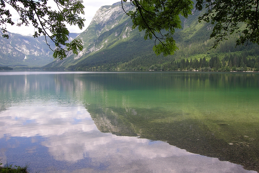
{"label": "whole reflection of blue sky and clouds on the near water", "polygon": [[0,158],[40,172],[250,172],[166,142],[101,133],[82,106],[46,102],[0,112]]}

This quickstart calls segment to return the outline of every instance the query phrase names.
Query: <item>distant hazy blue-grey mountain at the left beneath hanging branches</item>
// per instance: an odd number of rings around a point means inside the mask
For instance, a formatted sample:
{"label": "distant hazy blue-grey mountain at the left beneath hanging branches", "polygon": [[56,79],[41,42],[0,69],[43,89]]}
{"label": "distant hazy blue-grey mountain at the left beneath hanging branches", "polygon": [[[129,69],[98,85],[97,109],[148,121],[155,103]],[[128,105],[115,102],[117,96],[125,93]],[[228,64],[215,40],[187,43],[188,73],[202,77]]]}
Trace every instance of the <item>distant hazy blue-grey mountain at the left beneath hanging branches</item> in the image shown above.
{"label": "distant hazy blue-grey mountain at the left beneath hanging branches", "polygon": [[[2,35],[2,31],[0,31]],[[9,39],[0,37],[0,66],[41,67],[53,61],[53,52],[46,44],[45,37],[34,38],[16,33],[8,33]],[[71,33],[72,40],[78,34]],[[54,44],[48,39],[52,48]]]}

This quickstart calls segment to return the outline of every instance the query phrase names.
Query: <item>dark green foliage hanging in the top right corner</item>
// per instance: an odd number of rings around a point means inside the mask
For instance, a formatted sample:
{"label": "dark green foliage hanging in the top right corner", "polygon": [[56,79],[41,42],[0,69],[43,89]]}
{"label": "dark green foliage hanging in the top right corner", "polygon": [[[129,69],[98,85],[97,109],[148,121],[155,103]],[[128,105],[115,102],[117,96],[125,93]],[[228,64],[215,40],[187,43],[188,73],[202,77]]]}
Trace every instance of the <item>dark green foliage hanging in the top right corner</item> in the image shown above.
{"label": "dark green foliage hanging in the top right corner", "polygon": [[237,45],[246,44],[248,41],[259,43],[258,0],[198,0],[197,10],[204,7],[207,12],[199,17],[199,21],[214,25],[210,35],[211,38],[216,38],[214,47],[233,33],[242,33],[236,40]]}

